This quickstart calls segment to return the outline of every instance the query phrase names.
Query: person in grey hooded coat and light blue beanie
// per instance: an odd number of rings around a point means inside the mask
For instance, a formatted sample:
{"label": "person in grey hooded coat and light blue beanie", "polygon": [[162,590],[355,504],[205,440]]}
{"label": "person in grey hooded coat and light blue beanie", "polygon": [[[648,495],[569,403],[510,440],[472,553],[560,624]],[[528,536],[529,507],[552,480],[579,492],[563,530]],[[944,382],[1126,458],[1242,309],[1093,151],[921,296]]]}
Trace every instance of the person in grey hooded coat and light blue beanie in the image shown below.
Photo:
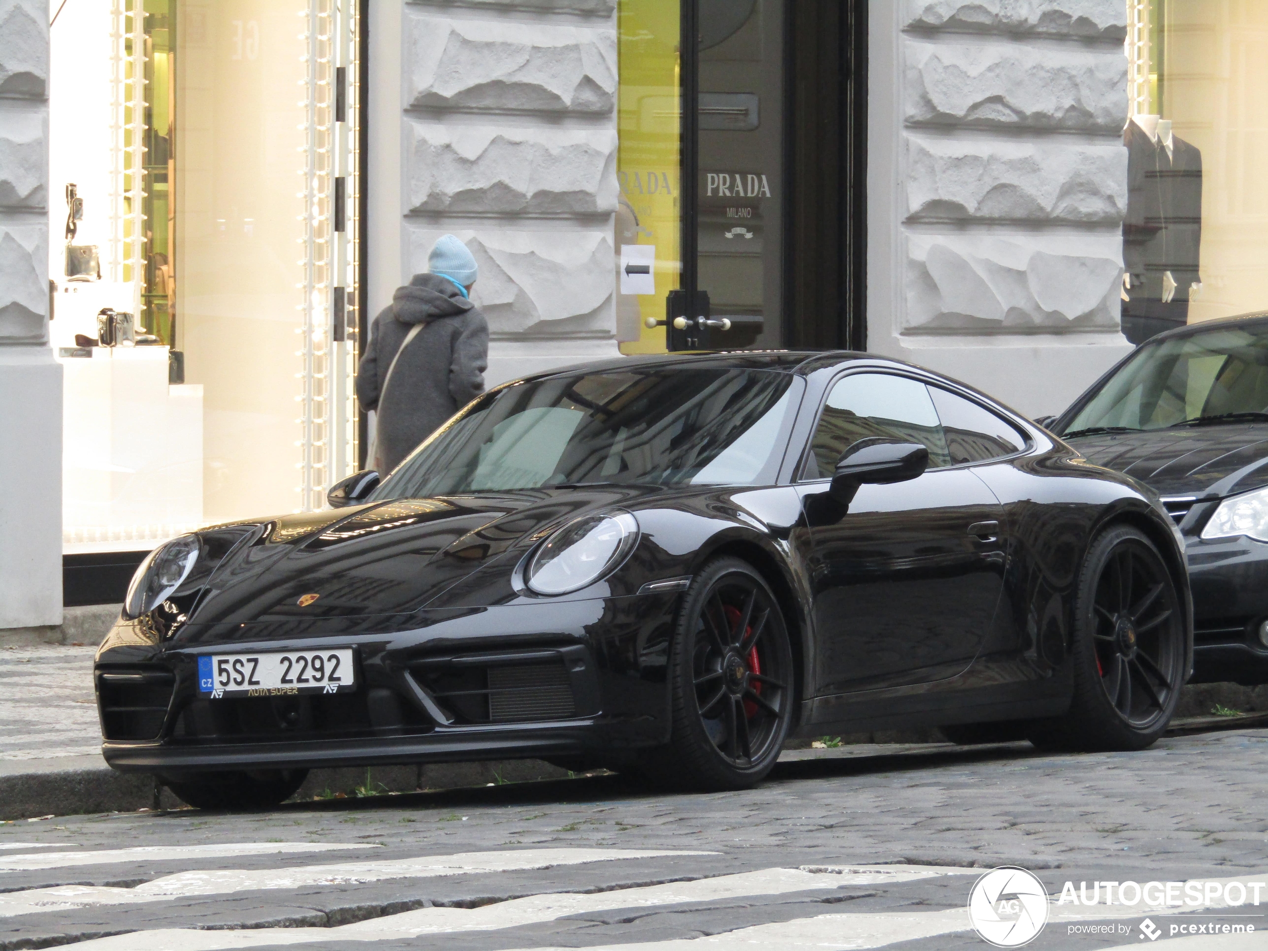
{"label": "person in grey hooded coat and light blue beanie", "polygon": [[378,412],[374,456],[366,465],[384,476],[484,392],[488,322],[469,293],[478,276],[476,259],[445,235],[427,266],[430,274],[416,274],[397,288],[392,306],[374,318],[356,377],[361,408]]}

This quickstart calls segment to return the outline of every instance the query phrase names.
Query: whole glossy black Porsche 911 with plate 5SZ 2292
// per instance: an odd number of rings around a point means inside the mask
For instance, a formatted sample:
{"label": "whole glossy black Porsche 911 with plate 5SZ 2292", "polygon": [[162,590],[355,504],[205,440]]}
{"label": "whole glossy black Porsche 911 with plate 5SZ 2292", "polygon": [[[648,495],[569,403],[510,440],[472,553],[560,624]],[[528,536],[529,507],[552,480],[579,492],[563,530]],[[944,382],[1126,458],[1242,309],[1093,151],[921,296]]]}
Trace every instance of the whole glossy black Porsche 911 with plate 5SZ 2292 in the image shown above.
{"label": "whole glossy black Porsche 911 with plate 5SZ 2292", "polygon": [[1142,748],[1189,673],[1155,498],[864,354],[540,374],[330,501],[141,566],[96,657],[112,766],[202,806],[492,757],[735,789],[794,734]]}

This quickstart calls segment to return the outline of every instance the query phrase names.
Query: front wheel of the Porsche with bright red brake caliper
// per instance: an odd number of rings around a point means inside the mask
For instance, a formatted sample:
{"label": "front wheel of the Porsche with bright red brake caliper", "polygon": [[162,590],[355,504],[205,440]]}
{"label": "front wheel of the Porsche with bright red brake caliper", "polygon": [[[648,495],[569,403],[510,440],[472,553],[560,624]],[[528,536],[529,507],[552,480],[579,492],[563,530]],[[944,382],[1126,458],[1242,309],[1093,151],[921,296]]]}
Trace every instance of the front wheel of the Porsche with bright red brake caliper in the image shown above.
{"label": "front wheel of the Porsche with bright red brake caliper", "polygon": [[643,760],[662,786],[746,789],[779,760],[792,720],[792,652],[775,595],[719,558],[685,597],[671,661],[673,730]]}

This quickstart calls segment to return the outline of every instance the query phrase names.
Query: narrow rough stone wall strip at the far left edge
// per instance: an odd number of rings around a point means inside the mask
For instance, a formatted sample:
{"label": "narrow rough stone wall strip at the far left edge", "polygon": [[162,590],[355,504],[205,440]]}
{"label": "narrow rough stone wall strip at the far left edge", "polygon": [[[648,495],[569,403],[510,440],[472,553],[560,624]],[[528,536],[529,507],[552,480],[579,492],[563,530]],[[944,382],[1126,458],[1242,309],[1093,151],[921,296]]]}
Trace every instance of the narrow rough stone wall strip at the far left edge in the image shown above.
{"label": "narrow rough stone wall strip at the far left edge", "polygon": [[0,346],[48,340],[48,10],[0,0]]}

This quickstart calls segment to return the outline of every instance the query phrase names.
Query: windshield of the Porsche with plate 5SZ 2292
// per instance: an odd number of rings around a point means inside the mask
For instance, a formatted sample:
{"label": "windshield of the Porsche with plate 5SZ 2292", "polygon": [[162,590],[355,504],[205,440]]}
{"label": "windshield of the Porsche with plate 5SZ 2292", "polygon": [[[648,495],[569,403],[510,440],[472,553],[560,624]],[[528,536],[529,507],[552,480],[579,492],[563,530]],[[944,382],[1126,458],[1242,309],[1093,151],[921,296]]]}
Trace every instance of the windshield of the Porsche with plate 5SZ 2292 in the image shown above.
{"label": "windshield of the Porsche with plate 5SZ 2292", "polygon": [[450,420],[372,498],[770,481],[791,383],[763,370],[652,368],[506,387]]}

